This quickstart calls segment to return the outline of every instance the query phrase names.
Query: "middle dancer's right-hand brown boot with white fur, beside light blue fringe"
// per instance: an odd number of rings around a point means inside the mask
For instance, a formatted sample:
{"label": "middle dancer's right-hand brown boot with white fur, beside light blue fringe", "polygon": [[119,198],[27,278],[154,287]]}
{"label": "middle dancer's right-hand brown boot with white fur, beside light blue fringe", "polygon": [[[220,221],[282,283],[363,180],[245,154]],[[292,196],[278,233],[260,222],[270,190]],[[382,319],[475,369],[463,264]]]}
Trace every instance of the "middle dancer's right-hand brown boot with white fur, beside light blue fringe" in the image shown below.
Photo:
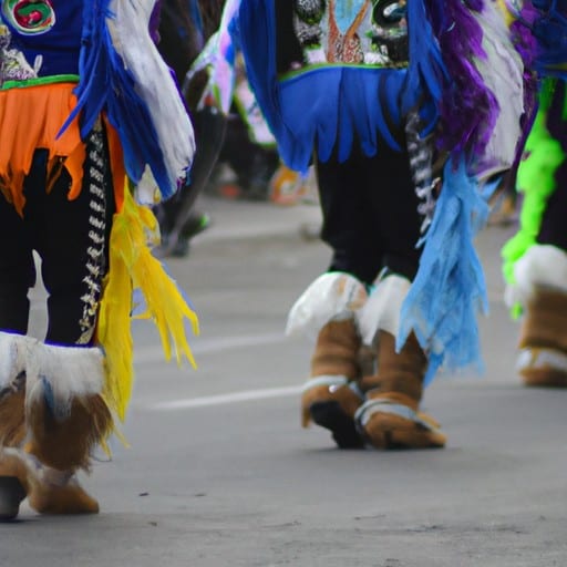
{"label": "middle dancer's right-hand brown boot with white fur, beside light blue fringe", "polygon": [[446,442],[439,425],[419,411],[427,358],[415,336],[410,334],[401,351],[395,351],[400,311],[410,285],[395,274],[381,276],[359,313],[363,341],[373,347],[375,362],[373,372],[360,381],[365,401],[355,423],[375,449],[442,447]]}

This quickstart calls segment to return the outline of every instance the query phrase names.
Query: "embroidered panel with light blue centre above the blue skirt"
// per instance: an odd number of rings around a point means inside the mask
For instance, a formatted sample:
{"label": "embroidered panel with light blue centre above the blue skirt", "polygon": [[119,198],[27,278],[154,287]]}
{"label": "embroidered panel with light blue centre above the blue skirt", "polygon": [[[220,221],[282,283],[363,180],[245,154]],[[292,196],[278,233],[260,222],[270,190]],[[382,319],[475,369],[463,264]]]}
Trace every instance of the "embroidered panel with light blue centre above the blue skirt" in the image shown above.
{"label": "embroidered panel with light blue centre above the blue skirt", "polygon": [[406,0],[291,0],[308,64],[408,64]]}

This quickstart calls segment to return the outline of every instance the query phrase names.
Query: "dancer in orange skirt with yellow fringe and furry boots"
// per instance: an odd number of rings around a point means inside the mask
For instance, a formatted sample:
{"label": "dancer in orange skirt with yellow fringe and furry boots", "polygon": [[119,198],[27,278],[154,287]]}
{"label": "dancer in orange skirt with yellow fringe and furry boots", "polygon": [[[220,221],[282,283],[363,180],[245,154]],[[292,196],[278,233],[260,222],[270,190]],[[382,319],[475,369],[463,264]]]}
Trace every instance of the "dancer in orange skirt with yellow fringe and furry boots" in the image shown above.
{"label": "dancer in orange skirt with yellow fringe and furry boots", "polygon": [[[194,154],[151,37],[154,4],[1,2],[2,519],[25,496],[39,513],[99,511],[75,472],[97,445],[107,451],[125,416],[134,310],[157,324],[167,357],[193,361],[184,320],[197,331],[197,319],[148,247],[150,205],[186,183]],[[49,296],[44,340],[28,334],[33,250]]]}

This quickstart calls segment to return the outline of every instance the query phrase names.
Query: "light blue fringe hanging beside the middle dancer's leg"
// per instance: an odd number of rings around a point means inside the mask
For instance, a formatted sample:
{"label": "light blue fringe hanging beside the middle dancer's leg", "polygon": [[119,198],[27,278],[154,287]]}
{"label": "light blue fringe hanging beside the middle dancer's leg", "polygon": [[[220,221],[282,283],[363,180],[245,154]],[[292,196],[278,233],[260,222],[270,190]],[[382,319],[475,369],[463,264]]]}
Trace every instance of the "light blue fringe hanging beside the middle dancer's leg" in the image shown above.
{"label": "light blue fringe hanging beside the middle dancer's leg", "polygon": [[487,218],[488,205],[465,164],[447,162],[433,223],[419,244],[424,247],[420,268],[402,306],[396,341],[401,348],[413,331],[429,353],[425,385],[442,365],[484,370],[477,316],[488,312],[488,300],[473,239]]}

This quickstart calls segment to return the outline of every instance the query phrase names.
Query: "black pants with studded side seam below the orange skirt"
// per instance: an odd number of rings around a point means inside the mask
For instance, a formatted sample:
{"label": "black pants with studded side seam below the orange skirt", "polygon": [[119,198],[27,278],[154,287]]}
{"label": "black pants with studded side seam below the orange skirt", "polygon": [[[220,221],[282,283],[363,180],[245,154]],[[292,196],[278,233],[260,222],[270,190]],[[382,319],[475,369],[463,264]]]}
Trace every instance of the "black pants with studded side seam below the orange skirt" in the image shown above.
{"label": "black pants with studded side seam below the orange skirt", "polygon": [[76,199],[68,198],[71,178],[64,168],[47,193],[47,151],[35,152],[23,186],[23,218],[0,196],[0,330],[28,331],[37,250],[49,293],[45,341],[91,346],[114,212],[104,133],[93,132],[86,143]]}

